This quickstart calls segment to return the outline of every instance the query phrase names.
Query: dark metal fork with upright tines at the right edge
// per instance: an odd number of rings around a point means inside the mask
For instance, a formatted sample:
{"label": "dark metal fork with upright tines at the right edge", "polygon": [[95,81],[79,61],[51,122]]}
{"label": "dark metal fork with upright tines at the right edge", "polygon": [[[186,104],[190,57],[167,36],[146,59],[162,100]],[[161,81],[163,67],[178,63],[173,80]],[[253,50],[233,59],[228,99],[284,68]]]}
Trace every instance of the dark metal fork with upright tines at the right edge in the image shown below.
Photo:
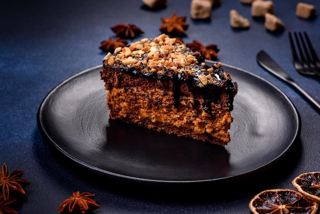
{"label": "dark metal fork with upright tines at the right edge", "polygon": [[[298,37],[299,34],[299,37]],[[289,40],[294,68],[302,75],[320,78],[320,60],[316,55],[306,32],[293,32],[296,48],[291,33]],[[298,49],[298,50],[296,50]],[[298,53],[299,52],[299,56]]]}

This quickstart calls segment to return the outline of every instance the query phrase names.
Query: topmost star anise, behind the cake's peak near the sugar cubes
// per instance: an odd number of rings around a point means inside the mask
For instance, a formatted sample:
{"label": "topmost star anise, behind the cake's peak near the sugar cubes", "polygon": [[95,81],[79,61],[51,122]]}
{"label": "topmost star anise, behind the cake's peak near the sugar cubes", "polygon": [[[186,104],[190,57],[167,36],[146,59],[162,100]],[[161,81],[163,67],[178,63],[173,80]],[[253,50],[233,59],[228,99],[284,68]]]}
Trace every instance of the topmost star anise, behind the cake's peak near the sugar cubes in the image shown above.
{"label": "topmost star anise, behind the cake's peak near the sugar cubes", "polygon": [[189,25],[186,23],[187,16],[180,16],[174,13],[171,18],[161,18],[162,26],[159,30],[170,36],[183,36]]}

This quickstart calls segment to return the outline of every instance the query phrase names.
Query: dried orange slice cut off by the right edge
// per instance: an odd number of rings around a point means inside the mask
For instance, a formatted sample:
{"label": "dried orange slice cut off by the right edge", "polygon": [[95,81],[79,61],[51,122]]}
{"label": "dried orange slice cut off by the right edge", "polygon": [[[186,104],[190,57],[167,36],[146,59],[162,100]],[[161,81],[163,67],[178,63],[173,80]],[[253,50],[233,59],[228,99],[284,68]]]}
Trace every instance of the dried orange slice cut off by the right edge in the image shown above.
{"label": "dried orange slice cut off by the right edge", "polygon": [[301,174],[293,179],[292,185],[306,197],[320,203],[320,172]]}

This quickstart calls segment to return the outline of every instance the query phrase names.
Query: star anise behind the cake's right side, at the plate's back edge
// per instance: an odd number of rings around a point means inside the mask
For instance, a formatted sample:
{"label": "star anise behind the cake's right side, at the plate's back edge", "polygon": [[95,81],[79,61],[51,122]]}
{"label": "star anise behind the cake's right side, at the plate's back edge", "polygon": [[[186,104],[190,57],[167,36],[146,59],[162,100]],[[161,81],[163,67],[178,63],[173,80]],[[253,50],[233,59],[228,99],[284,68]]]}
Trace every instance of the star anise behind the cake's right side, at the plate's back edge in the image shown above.
{"label": "star anise behind the cake's right side, at the plate's back edge", "polygon": [[187,43],[186,46],[193,51],[200,52],[205,59],[216,60],[218,58],[219,49],[215,44],[204,46],[202,42],[193,40],[192,43]]}

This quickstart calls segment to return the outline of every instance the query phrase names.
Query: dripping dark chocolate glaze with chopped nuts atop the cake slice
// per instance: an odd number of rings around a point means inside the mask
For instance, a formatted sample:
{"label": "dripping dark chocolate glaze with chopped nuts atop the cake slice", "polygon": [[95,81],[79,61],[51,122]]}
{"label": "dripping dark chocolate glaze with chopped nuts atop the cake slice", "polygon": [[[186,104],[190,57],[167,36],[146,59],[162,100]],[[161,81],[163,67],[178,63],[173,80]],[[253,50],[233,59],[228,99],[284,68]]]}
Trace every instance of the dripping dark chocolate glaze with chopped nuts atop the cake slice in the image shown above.
{"label": "dripping dark chocolate glaze with chopped nuts atop the cake slice", "polygon": [[[211,113],[211,104],[217,102],[222,91],[228,94],[228,109],[233,110],[233,99],[238,86],[228,73],[215,63],[205,65],[204,58],[185,45],[162,34],[154,39],[142,39],[128,47],[117,48],[103,59],[104,67],[119,68],[122,72],[150,79],[172,80],[175,107],[179,105],[180,84],[186,82],[194,97],[201,93],[203,110]],[[199,102],[195,98],[196,104]]]}

